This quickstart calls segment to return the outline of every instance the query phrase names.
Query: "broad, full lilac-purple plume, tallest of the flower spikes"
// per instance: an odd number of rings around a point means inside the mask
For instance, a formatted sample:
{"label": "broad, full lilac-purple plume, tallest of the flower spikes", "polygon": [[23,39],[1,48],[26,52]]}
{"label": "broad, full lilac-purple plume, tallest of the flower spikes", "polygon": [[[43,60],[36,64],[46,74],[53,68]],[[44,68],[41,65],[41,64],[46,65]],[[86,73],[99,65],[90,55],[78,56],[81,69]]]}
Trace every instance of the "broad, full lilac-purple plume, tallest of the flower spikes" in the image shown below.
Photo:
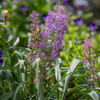
{"label": "broad, full lilac-purple plume, tallest of the flower spikes", "polygon": [[46,17],[46,25],[42,27],[44,38],[48,43],[46,49],[49,51],[49,59],[55,61],[58,57],[59,51],[63,49],[62,40],[64,39],[64,32],[67,31],[67,13],[63,7],[54,7],[56,12],[49,11]]}

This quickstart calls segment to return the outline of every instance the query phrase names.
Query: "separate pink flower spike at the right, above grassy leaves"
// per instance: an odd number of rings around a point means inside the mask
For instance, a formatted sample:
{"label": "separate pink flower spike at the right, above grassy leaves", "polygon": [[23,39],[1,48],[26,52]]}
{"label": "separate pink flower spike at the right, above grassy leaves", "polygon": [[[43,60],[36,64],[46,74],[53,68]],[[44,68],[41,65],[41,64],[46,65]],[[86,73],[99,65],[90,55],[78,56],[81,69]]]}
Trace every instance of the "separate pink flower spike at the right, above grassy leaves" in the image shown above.
{"label": "separate pink flower spike at the right, above grassy leaves", "polygon": [[97,87],[97,79],[96,71],[98,68],[95,67],[95,60],[94,60],[94,49],[93,49],[93,43],[89,39],[84,40],[84,44],[82,45],[82,50],[84,58],[82,60],[83,65],[87,66],[89,65],[88,70],[86,73],[89,75],[89,84],[93,87]]}

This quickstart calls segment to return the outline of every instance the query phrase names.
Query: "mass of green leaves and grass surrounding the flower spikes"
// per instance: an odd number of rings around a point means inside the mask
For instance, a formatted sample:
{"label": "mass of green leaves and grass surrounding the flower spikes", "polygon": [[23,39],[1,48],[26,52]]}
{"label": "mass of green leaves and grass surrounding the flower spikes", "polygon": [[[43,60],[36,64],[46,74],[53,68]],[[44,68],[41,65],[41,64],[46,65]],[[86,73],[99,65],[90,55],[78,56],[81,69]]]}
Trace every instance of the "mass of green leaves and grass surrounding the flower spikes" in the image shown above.
{"label": "mass of green leaves and grass surrounding the flower spikes", "polygon": [[[28,12],[20,7],[27,6]],[[15,8],[14,8],[15,7]],[[27,48],[29,43],[29,14],[32,10],[40,13],[41,23],[44,23],[42,15],[52,9],[49,0],[25,0],[15,2],[8,0],[8,5],[2,5],[0,10],[0,50],[4,64],[0,67],[0,100],[99,100],[100,99],[100,72],[97,73],[98,88],[89,85],[89,77],[85,73],[86,67],[81,63],[83,59],[81,46],[83,40],[91,39],[95,49],[96,67],[100,65],[100,34],[97,31],[90,32],[88,26],[83,23],[77,26],[74,22],[77,18],[90,18],[92,13],[75,15],[70,17],[68,13],[68,32],[63,41],[64,49],[59,58],[47,68],[46,79],[34,83],[38,77],[39,62],[36,59],[30,66],[27,62]],[[1,17],[4,9],[9,11],[7,25]],[[30,33],[31,34],[31,33]],[[94,39],[91,38],[94,35]],[[1,58],[0,58],[1,59]],[[80,62],[80,63],[79,63]]]}

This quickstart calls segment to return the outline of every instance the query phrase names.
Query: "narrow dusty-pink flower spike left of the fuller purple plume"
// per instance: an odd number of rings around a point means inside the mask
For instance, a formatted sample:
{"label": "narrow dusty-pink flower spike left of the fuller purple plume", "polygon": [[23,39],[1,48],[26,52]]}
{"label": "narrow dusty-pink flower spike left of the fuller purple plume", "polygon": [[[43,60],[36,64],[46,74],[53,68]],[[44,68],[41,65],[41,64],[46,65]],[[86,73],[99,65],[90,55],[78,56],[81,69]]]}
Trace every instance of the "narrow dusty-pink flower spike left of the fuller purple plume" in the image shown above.
{"label": "narrow dusty-pink flower spike left of the fuller purple plume", "polygon": [[28,47],[31,48],[32,51],[30,51],[30,53],[28,54],[28,62],[33,62],[36,58],[37,58],[37,51],[40,50],[40,47],[42,47],[42,43],[37,41],[37,39],[39,39],[38,36],[38,29],[40,28],[39,25],[39,18],[38,18],[39,14],[36,11],[33,11],[30,14],[30,20],[31,20],[31,25],[30,25],[30,31],[32,32],[30,39],[31,39],[31,43],[28,44]]}

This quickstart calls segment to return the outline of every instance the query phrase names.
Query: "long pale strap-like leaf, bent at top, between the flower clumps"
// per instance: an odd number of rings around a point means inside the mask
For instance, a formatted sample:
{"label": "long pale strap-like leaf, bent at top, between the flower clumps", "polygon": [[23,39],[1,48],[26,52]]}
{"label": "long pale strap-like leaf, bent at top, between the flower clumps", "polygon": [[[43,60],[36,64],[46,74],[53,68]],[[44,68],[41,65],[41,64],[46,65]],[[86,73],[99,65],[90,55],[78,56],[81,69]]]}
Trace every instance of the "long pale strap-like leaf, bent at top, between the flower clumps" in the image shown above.
{"label": "long pale strap-like leaf, bent at top, between the flower clumps", "polygon": [[69,69],[68,69],[68,72],[67,72],[66,77],[65,77],[65,84],[64,84],[64,89],[63,89],[63,94],[62,94],[62,99],[61,100],[63,100],[63,98],[64,98],[64,93],[66,91],[66,88],[67,88],[68,82],[70,80],[70,77],[71,77],[73,71],[75,70],[75,68],[76,68],[76,66],[78,65],[79,62],[80,62],[80,60],[74,59],[72,61],[71,65],[70,65]]}

